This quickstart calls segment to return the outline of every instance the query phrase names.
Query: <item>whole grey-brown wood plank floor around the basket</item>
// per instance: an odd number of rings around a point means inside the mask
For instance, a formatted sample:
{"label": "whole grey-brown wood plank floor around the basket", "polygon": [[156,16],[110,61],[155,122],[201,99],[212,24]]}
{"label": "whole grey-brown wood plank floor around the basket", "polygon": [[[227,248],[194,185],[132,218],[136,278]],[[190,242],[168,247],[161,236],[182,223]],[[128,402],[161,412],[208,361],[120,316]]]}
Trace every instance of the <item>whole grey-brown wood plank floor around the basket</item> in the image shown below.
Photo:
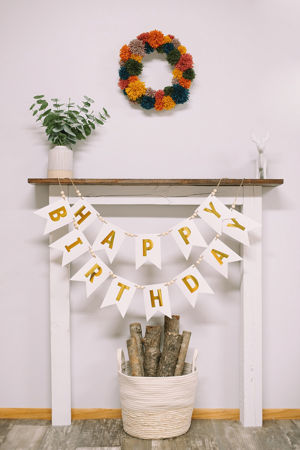
{"label": "whole grey-brown wood plank floor around the basket", "polygon": [[0,419],[0,450],[300,450],[300,420],[265,420],[243,428],[231,420],[193,419],[183,436],[143,440],[126,434],[121,419]]}

